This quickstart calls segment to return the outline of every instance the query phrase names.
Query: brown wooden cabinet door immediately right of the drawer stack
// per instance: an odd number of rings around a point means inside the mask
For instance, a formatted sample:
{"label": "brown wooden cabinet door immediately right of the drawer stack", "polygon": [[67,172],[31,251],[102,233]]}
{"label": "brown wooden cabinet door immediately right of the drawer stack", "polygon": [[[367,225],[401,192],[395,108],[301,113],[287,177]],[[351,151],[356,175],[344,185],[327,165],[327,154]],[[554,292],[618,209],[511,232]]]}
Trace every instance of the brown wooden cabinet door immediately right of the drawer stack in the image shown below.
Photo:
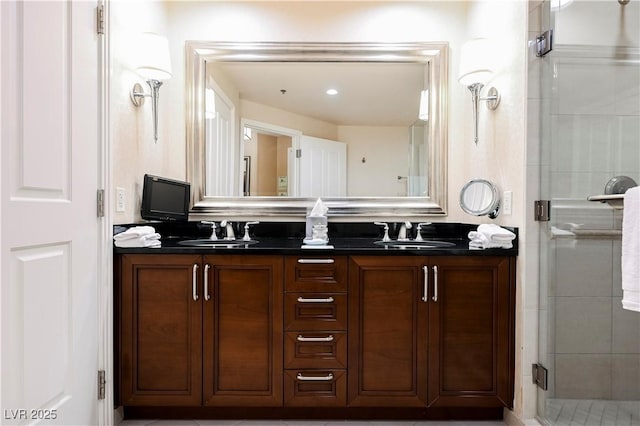
{"label": "brown wooden cabinet door immediately right of the drawer stack", "polygon": [[350,406],[424,406],[423,257],[354,256],[349,265]]}

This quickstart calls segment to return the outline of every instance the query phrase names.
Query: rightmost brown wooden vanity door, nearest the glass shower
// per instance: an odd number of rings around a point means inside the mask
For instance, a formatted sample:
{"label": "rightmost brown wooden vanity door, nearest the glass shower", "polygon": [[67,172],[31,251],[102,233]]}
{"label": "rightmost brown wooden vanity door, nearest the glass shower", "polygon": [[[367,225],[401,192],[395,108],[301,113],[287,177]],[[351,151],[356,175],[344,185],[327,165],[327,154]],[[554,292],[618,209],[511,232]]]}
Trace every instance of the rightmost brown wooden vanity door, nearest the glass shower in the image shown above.
{"label": "rightmost brown wooden vanity door, nearest the glass shower", "polygon": [[512,407],[515,261],[431,259],[429,406]]}

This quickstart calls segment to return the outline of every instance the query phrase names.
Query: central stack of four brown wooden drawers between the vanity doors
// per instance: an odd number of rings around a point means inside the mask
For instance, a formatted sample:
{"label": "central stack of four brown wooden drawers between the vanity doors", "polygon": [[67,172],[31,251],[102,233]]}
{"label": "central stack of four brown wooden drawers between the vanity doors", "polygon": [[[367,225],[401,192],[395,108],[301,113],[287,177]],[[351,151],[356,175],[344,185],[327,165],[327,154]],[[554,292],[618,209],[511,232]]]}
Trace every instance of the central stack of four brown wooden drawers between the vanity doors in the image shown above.
{"label": "central stack of four brown wooden drawers between the vanity doors", "polygon": [[347,403],[347,257],[286,256],[284,406]]}

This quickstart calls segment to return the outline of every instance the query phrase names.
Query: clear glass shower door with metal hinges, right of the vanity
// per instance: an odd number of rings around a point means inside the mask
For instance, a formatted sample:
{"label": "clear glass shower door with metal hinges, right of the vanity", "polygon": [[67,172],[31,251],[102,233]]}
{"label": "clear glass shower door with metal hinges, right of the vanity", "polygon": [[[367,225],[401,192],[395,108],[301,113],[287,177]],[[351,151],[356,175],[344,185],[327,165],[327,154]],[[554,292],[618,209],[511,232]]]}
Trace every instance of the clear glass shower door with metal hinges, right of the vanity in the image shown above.
{"label": "clear glass shower door with metal hinges, right of the vanity", "polygon": [[[630,23],[637,32],[638,10],[633,1],[551,9],[556,43],[540,59],[550,221],[540,236],[539,360],[549,374],[538,413],[552,425],[640,424],[640,313],[621,304],[623,210],[588,201],[640,182],[640,49],[637,36],[620,36]],[[592,44],[605,12],[619,26]]]}

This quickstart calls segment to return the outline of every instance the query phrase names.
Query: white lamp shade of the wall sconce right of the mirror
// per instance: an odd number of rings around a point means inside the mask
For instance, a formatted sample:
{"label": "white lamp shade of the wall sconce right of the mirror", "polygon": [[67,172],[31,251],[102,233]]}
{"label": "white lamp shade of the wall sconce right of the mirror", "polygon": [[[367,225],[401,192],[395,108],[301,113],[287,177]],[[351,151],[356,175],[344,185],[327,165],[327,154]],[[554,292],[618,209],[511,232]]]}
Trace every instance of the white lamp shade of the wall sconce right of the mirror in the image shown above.
{"label": "white lamp shade of the wall sconce right of the mirror", "polygon": [[460,51],[458,81],[464,86],[485,84],[493,75],[489,41],[484,38],[469,40]]}

